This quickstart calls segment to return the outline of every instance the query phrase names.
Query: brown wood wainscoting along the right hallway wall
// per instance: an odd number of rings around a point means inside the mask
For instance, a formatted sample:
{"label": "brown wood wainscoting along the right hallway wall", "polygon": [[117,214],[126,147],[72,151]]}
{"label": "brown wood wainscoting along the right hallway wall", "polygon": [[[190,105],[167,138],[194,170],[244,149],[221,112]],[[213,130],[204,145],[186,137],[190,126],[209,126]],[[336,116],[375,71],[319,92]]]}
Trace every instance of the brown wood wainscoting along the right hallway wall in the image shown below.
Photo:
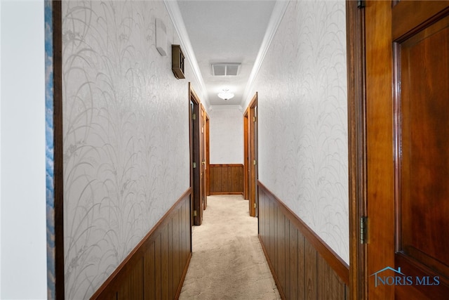
{"label": "brown wood wainscoting along the right hallway wall", "polygon": [[259,187],[259,240],[283,299],[349,299],[349,266],[303,221]]}

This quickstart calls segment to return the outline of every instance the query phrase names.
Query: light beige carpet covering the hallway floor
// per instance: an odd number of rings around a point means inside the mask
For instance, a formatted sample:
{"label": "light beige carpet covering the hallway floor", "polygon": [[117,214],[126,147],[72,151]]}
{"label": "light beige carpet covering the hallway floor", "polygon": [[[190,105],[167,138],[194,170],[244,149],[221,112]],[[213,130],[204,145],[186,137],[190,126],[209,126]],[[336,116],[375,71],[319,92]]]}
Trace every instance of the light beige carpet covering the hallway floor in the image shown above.
{"label": "light beige carpet covering the hallway floor", "polygon": [[208,197],[180,299],[281,299],[241,195]]}

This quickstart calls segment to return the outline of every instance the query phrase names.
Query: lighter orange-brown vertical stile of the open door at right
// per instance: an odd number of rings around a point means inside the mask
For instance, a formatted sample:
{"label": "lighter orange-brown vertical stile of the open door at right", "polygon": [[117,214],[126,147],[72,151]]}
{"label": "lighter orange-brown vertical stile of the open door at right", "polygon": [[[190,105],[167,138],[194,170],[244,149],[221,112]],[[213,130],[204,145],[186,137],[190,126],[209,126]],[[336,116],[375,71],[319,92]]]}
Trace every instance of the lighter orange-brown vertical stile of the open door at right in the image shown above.
{"label": "lighter orange-brown vertical stile of the open door at right", "polygon": [[[367,1],[366,28],[366,272],[394,266],[394,111],[391,1]],[[381,75],[381,76],[379,76]],[[389,180],[391,178],[391,180]],[[366,297],[394,299],[395,286],[366,279]]]}

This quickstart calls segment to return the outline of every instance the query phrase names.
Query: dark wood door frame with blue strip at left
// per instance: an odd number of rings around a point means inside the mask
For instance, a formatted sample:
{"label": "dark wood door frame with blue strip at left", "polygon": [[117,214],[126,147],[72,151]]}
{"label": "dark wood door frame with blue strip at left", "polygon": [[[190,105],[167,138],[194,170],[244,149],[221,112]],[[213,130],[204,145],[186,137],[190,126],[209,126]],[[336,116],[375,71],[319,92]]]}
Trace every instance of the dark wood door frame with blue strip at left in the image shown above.
{"label": "dark wood door frame with blue strip at left", "polygon": [[48,297],[65,297],[64,176],[62,128],[62,6],[45,1],[46,30],[46,202]]}

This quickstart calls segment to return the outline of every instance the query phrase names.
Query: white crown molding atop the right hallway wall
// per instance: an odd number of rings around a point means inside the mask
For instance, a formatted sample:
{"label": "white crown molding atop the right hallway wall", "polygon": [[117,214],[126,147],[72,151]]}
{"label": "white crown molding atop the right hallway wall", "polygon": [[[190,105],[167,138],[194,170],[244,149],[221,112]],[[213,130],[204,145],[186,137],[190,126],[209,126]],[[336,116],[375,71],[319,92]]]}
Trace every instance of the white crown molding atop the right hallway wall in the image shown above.
{"label": "white crown molding atop the right hallway wall", "polygon": [[274,4],[272,16],[269,18],[267,31],[265,32],[262,45],[260,46],[259,53],[257,53],[257,58],[255,59],[255,63],[253,65],[253,70],[251,70],[245,91],[243,92],[242,102],[240,105],[241,107],[248,106],[251,98],[253,98],[250,93],[253,90],[255,78],[257,77],[257,73],[259,72],[264,58],[267,55],[269,46],[272,44],[274,35],[278,30],[279,24],[281,24],[281,20],[283,15],[286,13],[289,3],[290,1],[288,0],[277,0],[276,4]]}

